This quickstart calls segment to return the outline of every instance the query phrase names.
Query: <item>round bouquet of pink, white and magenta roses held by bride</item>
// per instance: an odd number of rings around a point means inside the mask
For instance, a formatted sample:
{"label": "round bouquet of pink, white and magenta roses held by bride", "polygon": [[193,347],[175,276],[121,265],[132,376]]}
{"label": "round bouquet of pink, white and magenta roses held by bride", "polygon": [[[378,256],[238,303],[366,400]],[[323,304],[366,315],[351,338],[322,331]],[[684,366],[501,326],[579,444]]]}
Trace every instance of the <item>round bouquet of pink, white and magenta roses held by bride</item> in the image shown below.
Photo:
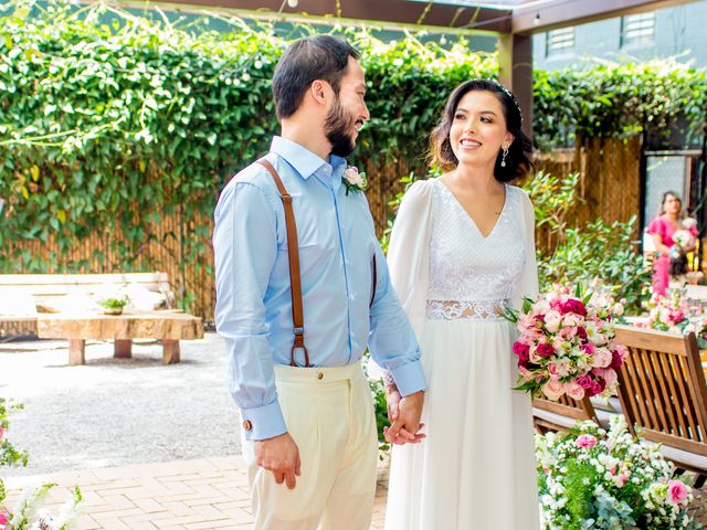
{"label": "round bouquet of pink, white and magenta roses held by bride", "polygon": [[550,400],[563,394],[574,400],[610,396],[618,385],[616,370],[627,350],[614,339],[614,318],[623,305],[610,295],[558,287],[537,300],[525,299],[521,311],[506,318],[520,332],[513,344],[518,357],[516,390]]}

